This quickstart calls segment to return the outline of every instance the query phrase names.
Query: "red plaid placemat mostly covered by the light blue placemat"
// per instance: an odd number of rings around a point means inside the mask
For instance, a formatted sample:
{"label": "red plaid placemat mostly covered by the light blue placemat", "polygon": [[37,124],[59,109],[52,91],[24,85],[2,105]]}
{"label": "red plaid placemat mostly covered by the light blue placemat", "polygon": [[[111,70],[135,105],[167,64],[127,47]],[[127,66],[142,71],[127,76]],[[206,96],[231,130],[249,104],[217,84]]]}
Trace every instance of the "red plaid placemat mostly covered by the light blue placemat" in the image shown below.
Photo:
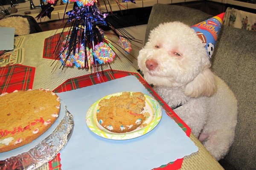
{"label": "red plaid placemat mostly covered by the light blue placemat", "polygon": [[[187,136],[190,136],[191,129],[176,115],[175,112],[172,111],[172,109],[163,101],[163,99],[160,98],[160,96],[158,96],[158,94],[151,88],[150,85],[148,85],[147,82],[145,82],[143,77],[141,77],[141,75],[138,73],[127,72],[127,71],[117,71],[117,70],[113,70],[112,72],[111,70],[107,70],[107,71],[104,71],[104,75],[100,74],[99,76],[97,76],[96,74],[88,74],[81,77],[68,79],[67,81],[62,83],[58,88],[53,90],[53,92],[60,93],[64,91],[75,90],[78,88],[83,88],[90,85],[99,84],[102,82],[108,82],[113,79],[118,79],[121,77],[130,76],[130,75],[133,75],[140,80],[140,82],[151,93],[151,95],[154,96],[155,99],[157,99],[157,101],[160,103],[160,105],[163,107],[166,113],[170,117],[172,117],[172,119],[175,120],[175,122],[182,128],[182,130],[186,133]],[[153,170],[170,170],[170,169],[177,170],[181,168],[182,161],[183,161],[183,158],[177,159],[174,162],[170,162],[166,165],[162,165],[160,167],[154,168]]]}

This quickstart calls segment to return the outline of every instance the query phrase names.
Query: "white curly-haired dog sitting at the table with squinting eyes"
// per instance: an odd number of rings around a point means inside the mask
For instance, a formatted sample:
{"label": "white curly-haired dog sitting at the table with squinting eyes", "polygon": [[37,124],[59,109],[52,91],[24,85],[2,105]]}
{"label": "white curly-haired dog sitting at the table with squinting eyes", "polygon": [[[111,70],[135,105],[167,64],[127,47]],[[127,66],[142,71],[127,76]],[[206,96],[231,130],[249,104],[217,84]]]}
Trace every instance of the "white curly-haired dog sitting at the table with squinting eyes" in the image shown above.
{"label": "white curly-haired dog sitting at the table with squinting eyes", "polygon": [[233,143],[237,101],[210,70],[207,51],[195,31],[180,22],[160,24],[140,50],[138,66],[212,156],[222,159]]}

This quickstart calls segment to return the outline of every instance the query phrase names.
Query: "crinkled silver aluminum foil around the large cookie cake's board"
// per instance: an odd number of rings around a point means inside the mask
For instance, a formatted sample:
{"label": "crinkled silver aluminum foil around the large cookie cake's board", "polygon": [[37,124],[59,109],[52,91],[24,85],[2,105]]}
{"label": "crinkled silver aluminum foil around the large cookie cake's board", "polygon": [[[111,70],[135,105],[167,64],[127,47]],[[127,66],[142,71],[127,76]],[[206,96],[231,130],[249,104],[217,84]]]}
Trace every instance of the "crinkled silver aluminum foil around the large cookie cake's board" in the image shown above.
{"label": "crinkled silver aluminum foil around the large cookie cake's board", "polygon": [[57,128],[28,152],[0,161],[0,170],[35,170],[51,161],[64,148],[73,130],[73,115],[67,110]]}

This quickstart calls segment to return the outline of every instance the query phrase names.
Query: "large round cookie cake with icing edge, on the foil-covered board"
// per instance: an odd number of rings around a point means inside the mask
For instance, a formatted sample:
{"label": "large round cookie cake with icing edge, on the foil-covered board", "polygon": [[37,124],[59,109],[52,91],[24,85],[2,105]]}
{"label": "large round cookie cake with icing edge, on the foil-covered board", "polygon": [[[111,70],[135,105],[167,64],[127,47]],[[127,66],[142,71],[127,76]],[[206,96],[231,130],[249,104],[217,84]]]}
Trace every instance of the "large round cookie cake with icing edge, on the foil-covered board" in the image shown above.
{"label": "large round cookie cake with icing edge, on the foil-covered board", "polygon": [[60,98],[49,89],[0,95],[0,153],[37,139],[58,118]]}

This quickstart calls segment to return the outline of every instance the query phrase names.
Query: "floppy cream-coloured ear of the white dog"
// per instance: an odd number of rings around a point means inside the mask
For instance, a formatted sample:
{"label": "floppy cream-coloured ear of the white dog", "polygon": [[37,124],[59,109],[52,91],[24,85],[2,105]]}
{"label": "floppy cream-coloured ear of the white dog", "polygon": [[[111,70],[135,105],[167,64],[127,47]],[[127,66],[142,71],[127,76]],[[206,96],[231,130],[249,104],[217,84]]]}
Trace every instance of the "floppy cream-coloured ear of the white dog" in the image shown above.
{"label": "floppy cream-coloured ear of the white dog", "polygon": [[215,91],[215,78],[209,68],[198,74],[198,76],[184,88],[184,93],[186,96],[190,97],[211,96]]}

